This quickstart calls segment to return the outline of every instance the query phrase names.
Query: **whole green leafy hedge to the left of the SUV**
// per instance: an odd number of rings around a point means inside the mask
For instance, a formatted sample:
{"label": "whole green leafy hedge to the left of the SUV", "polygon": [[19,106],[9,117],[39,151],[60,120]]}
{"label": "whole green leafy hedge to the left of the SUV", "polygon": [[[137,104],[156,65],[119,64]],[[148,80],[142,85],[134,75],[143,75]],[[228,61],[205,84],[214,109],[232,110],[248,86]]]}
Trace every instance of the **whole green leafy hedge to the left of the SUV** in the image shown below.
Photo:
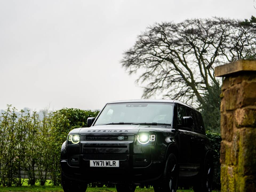
{"label": "whole green leafy hedge to the left of the SUV", "polygon": [[98,113],[64,108],[39,118],[36,112],[18,113],[8,105],[0,115],[0,185],[21,186],[23,170],[29,185],[45,185],[47,178],[59,185],[62,143],[71,129],[86,126],[87,118]]}

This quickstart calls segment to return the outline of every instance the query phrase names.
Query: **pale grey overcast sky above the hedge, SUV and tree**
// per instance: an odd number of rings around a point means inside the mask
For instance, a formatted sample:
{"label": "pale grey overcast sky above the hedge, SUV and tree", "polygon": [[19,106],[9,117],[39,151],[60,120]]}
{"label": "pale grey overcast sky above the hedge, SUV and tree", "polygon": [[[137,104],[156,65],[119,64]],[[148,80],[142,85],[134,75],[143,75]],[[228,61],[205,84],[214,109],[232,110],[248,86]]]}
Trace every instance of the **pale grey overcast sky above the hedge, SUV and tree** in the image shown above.
{"label": "pale grey overcast sky above the hedge, SUV and tree", "polygon": [[[122,53],[154,22],[256,15],[254,0],[0,0],[0,109],[140,99]],[[156,98],[158,98],[156,96]]]}

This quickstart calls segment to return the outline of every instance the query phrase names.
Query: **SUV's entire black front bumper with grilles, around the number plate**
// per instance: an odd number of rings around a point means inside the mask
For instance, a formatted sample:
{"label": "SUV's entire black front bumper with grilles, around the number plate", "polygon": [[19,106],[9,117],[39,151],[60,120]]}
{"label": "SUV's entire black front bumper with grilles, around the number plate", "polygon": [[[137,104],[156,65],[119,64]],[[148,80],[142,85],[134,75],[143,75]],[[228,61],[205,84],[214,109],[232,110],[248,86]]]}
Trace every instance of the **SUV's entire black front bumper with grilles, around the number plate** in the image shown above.
{"label": "SUV's entire black front bumper with grilles, around the number plate", "polygon": [[[164,161],[155,146],[132,142],[67,145],[61,168],[67,178],[85,182],[146,183],[161,177]],[[76,161],[72,161],[76,160]],[[118,160],[119,167],[90,167],[90,160]]]}

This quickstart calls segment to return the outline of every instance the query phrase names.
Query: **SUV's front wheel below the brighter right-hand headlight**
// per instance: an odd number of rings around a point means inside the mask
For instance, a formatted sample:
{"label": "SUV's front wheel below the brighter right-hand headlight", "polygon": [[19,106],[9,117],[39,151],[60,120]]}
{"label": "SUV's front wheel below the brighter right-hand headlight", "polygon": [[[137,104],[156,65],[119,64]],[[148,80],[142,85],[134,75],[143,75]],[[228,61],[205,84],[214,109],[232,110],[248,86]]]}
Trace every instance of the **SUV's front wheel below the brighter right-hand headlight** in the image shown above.
{"label": "SUV's front wheel below the brighter right-hand headlight", "polygon": [[176,156],[171,153],[166,160],[162,181],[154,185],[155,192],[176,192],[178,188],[179,165]]}

